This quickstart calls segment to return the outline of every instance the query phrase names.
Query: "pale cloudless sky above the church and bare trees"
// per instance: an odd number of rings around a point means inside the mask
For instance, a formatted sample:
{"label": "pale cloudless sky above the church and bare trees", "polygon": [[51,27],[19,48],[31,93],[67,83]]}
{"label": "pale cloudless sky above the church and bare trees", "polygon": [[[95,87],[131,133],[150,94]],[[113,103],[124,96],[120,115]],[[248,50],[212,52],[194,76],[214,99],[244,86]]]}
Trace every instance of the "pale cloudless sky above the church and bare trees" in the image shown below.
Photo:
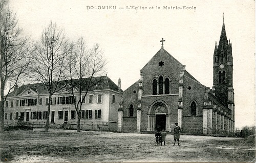
{"label": "pale cloudless sky above the church and bare trees", "polygon": [[9,5],[32,41],[52,20],[72,41],[83,36],[89,46],[99,43],[107,75],[116,84],[120,78],[122,90],[140,78],[140,69],[160,50],[162,38],[164,49],[211,88],[224,13],[232,43],[235,127],[255,125],[254,1],[10,0]]}

